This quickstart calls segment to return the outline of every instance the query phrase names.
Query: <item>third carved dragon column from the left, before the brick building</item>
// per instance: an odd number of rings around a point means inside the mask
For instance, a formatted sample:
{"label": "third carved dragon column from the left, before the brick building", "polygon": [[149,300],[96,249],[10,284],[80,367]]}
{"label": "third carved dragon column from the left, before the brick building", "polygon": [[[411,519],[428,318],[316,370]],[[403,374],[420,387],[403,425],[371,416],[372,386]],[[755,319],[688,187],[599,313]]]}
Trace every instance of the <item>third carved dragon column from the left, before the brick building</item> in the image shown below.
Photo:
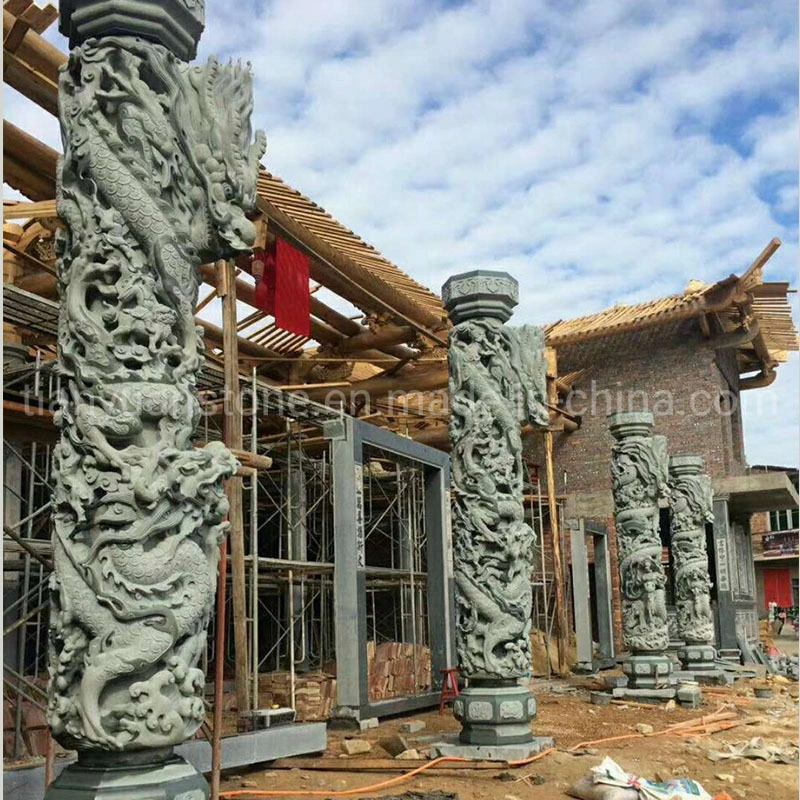
{"label": "third carved dragon column from the left, before the brick building", "polygon": [[669,645],[667,582],[661,564],[659,500],[668,491],[667,443],[653,436],[648,412],[611,414],[616,439],[611,480],[622,588],[622,628],[631,652],[622,665],[629,689],[666,686],[672,661]]}

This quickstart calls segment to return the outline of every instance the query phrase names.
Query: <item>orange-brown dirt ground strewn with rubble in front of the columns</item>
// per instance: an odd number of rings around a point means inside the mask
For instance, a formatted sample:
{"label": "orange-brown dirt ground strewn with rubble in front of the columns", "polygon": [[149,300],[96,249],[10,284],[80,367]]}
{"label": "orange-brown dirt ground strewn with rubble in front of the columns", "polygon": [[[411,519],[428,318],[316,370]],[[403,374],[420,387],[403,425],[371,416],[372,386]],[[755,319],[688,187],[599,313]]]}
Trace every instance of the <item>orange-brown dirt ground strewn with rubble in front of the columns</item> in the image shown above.
{"label": "orange-brown dirt ground strewn with rubble in front of the columns", "polygon": [[[581,687],[574,693],[563,694],[568,685]],[[411,719],[426,723],[418,734],[404,734],[411,747],[424,749],[430,737],[441,732],[455,732],[458,723],[450,713],[439,716],[437,711],[383,720],[376,729],[364,734],[329,731],[328,749],[315,759],[314,766],[324,766],[331,760],[337,766],[353,761],[353,771],[326,771],[323,769],[291,768],[292,760],[247,774],[228,775],[223,780],[223,791],[268,789],[302,792],[298,797],[333,797],[334,793],[359,787],[375,786],[373,791],[356,797],[378,797],[402,794],[407,791],[446,790],[458,794],[461,800],[555,800],[567,797],[571,783],[587,774],[590,767],[609,755],[628,772],[647,778],[669,779],[690,777],[702,783],[712,796],[726,791],[732,798],[750,800],[795,800],[798,797],[798,769],[793,765],[765,761],[730,760],[713,762],[709,751],[719,750],[723,743],[737,743],[753,737],[762,737],[767,744],[798,745],[797,685],[775,686],[775,696],[769,700],[753,697],[750,681],[739,681],[735,688],[714,688],[710,691],[735,695],[737,719],[746,721],[728,731],[711,735],[680,738],[677,736],[647,736],[623,741],[595,744],[589,752],[580,755],[567,752],[581,742],[635,733],[637,723],[652,725],[655,732],[676,722],[699,720],[719,708],[725,700],[704,694],[701,709],[689,711],[681,708],[666,710],[663,705],[639,708],[623,705],[595,706],[589,703],[586,681],[534,686],[539,700],[539,716],[534,730],[539,735],[552,736],[556,752],[525,767],[499,766],[497,769],[432,769],[391,787],[378,787],[383,781],[398,777],[399,772],[367,771],[368,761],[382,759],[386,764],[389,755],[378,744],[388,734],[396,733],[400,725]],[[555,688],[556,691],[552,691]],[[733,707],[732,707],[733,708]],[[372,743],[370,753],[346,756],[342,753],[344,738],[367,739]],[[303,763],[298,760],[294,763]],[[400,762],[402,763],[402,762]],[[305,765],[304,765],[305,766]],[[718,776],[725,777],[720,778]],[[733,782],[729,782],[733,776]],[[315,794],[311,794],[311,793]]]}

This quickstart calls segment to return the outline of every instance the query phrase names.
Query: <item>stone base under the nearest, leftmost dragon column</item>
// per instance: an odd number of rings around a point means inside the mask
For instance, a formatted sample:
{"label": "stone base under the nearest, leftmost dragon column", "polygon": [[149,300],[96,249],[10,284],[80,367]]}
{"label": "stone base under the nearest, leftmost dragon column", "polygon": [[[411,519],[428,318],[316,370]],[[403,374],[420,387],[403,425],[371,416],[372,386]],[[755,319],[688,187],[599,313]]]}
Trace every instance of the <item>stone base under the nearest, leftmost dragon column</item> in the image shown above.
{"label": "stone base under the nearest, leftmost dragon column", "polygon": [[208,800],[205,778],[179,756],[108,753],[70,764],[45,792],[45,800]]}

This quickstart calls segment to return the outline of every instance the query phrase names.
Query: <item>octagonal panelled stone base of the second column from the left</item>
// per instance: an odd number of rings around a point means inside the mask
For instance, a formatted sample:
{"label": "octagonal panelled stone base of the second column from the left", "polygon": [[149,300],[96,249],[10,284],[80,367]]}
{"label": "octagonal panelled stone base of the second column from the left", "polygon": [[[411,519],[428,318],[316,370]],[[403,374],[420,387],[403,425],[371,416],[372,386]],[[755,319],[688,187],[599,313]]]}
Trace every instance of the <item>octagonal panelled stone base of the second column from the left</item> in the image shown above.
{"label": "octagonal panelled stone base of the second column from the left", "polygon": [[536,698],[516,681],[471,680],[453,701],[453,716],[462,725],[462,744],[528,744]]}

